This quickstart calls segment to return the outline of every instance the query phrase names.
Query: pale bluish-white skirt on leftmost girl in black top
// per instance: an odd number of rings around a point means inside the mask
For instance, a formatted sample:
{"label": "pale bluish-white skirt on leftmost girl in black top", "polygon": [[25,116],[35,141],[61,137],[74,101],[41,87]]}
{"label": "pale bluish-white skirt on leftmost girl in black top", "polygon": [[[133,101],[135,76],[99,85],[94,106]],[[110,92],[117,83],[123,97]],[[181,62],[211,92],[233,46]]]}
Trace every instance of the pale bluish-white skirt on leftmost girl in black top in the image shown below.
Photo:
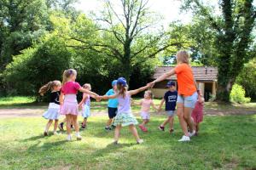
{"label": "pale bluish-white skirt on leftmost girl in black top", "polygon": [[58,120],[60,117],[60,105],[49,103],[48,110],[44,112],[43,117],[48,120]]}

